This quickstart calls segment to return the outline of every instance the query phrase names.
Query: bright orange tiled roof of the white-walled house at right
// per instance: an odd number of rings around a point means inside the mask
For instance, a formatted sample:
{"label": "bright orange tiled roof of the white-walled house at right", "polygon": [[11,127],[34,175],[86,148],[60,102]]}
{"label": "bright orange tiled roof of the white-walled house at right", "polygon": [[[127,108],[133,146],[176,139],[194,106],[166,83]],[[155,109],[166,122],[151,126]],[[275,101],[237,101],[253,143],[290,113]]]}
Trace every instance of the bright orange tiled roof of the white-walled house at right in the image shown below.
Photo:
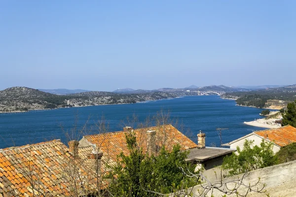
{"label": "bright orange tiled roof of the white-walled house at right", "polygon": [[284,147],[292,142],[296,142],[296,128],[290,125],[279,129],[271,129],[264,131],[255,131],[256,134],[264,139],[274,141],[275,144]]}

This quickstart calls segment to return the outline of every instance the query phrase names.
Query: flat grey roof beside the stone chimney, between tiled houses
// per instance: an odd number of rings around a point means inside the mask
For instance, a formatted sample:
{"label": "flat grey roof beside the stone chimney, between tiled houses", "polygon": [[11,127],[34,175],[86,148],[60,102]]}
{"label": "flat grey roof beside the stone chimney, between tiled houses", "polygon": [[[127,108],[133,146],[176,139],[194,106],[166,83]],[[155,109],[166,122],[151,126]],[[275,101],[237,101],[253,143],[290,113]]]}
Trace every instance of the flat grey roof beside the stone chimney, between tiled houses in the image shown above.
{"label": "flat grey roof beside the stone chimney, between tiled houses", "polygon": [[227,155],[236,151],[235,149],[230,148],[216,148],[216,147],[206,147],[206,148],[193,148],[189,150],[189,155],[186,159],[189,161],[199,161],[204,162],[209,159],[213,159],[222,155]]}

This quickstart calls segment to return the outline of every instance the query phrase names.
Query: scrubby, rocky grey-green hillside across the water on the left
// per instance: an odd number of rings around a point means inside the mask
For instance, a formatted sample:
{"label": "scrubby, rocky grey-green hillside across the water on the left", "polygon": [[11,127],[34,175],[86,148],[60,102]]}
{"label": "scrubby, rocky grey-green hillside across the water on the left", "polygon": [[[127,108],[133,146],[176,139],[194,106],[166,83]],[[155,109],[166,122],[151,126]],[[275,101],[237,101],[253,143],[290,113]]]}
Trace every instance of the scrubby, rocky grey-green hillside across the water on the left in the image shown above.
{"label": "scrubby, rocky grey-green hillside across the water on the left", "polygon": [[175,98],[170,93],[116,94],[111,92],[84,92],[71,95],[54,95],[26,87],[12,87],[0,91],[0,112],[27,111],[57,107],[101,104],[135,103],[146,100]]}

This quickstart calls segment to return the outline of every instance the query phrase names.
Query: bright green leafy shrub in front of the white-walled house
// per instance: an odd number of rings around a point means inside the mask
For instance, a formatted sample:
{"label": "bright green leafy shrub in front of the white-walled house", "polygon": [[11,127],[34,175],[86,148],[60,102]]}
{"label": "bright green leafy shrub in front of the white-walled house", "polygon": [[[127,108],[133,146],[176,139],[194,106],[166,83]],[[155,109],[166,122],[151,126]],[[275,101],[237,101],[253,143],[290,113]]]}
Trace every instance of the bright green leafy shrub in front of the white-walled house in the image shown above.
{"label": "bright green leafy shrub in front of the white-walled house", "polygon": [[236,153],[223,159],[222,169],[229,170],[230,175],[236,175],[278,163],[272,151],[273,143],[264,142],[263,139],[260,146],[253,146],[253,143],[254,140],[245,140],[242,150],[237,147]]}

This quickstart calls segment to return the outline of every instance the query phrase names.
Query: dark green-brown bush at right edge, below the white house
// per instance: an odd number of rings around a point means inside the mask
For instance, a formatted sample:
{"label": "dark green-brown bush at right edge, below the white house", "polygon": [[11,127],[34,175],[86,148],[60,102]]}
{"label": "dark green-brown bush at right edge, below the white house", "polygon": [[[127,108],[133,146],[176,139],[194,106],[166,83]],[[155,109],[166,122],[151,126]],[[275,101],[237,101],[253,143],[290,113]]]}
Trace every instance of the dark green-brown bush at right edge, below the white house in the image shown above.
{"label": "dark green-brown bush at right edge, below the white house", "polygon": [[281,150],[275,154],[275,156],[278,158],[279,164],[296,160],[296,142],[282,147]]}

